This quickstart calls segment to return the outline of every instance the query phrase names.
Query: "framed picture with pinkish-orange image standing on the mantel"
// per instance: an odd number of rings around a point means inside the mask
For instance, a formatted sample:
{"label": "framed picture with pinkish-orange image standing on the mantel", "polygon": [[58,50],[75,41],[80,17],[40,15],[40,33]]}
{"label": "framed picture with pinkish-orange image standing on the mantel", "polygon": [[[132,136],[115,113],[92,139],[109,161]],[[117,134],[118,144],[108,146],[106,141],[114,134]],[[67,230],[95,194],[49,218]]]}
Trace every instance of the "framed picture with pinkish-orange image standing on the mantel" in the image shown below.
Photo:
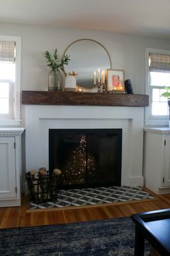
{"label": "framed picture with pinkish-orange image standing on the mantel", "polygon": [[125,92],[125,72],[120,69],[107,69],[107,92]]}

